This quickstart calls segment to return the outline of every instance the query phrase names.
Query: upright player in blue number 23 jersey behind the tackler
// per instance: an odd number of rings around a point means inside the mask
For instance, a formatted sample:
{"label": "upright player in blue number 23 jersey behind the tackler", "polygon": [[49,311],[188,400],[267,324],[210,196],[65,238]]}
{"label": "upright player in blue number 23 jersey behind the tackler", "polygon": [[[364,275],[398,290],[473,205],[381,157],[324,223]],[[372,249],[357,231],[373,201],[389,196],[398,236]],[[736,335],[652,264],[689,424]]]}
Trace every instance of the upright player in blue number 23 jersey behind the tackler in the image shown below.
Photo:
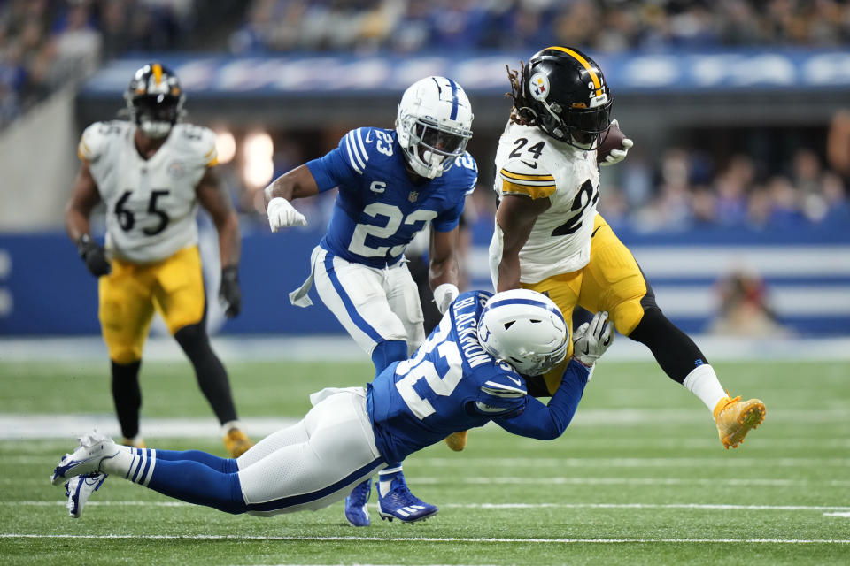
{"label": "upright player in blue number 23 jersey behind the tackler", "polygon": [[[307,293],[314,284],[321,301],[372,356],[375,375],[425,340],[418,288],[404,254],[429,224],[429,285],[440,313],[458,296],[458,222],[478,180],[475,159],[466,151],[472,119],[458,83],[427,77],[405,91],[394,130],[352,130],[324,157],[266,187],[272,232],[306,225],[293,199],[339,188],[328,232],[313,249],[310,276],[290,301],[311,305]],[[365,482],[345,501],[345,517],[354,526],[369,524],[371,487]],[[437,513],[410,493],[400,463],[379,474],[378,497],[382,518],[413,522]]]}

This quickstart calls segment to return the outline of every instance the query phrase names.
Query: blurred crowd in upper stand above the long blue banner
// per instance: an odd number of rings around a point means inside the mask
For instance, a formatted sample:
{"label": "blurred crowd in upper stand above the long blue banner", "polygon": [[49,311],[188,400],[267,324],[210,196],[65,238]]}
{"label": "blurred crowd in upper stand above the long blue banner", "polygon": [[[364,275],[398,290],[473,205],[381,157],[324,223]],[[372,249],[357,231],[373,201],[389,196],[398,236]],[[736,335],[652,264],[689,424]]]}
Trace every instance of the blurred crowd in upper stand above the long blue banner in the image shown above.
{"label": "blurred crowd in upper stand above the long blue banner", "polygon": [[576,45],[618,51],[837,45],[838,0],[255,0],[231,46],[251,50],[479,50]]}

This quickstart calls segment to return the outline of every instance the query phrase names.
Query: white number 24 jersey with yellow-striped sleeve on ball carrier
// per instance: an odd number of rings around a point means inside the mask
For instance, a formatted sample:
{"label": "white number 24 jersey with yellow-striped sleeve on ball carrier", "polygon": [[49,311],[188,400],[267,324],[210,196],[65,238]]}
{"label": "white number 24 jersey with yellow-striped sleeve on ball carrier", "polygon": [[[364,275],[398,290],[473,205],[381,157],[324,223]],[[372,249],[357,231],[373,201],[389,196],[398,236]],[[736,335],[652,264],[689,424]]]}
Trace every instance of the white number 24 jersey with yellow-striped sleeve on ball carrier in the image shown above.
{"label": "white number 24 jersey with yellow-striped sleeve on ball carrier", "polygon": [[[534,224],[520,251],[520,281],[537,283],[582,269],[591,257],[591,232],[599,202],[596,151],[576,149],[537,126],[508,123],[498,141],[494,189],[504,195],[549,198],[552,205]],[[491,260],[501,258],[501,239]],[[495,263],[498,265],[498,261]],[[491,269],[494,264],[491,261]],[[497,280],[494,273],[494,282]]]}

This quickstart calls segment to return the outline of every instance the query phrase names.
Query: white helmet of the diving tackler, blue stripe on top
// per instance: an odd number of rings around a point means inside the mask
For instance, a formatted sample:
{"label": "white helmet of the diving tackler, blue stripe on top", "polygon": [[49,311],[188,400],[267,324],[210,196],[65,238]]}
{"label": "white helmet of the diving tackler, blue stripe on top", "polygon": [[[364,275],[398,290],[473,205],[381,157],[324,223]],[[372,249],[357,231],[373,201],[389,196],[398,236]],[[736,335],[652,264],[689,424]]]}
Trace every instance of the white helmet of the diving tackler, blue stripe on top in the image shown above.
{"label": "white helmet of the diving tackler, blue stripe on top", "polygon": [[478,321],[478,341],[483,348],[523,375],[540,375],[562,362],[568,338],[558,305],[530,289],[494,294]]}

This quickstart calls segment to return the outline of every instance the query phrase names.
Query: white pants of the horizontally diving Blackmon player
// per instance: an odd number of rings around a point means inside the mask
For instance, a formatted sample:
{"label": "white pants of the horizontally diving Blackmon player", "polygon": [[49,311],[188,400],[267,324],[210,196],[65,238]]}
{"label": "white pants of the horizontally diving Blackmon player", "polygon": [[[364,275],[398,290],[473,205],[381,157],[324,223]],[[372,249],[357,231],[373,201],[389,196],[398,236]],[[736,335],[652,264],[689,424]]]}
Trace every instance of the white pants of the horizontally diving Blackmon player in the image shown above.
{"label": "white pants of the horizontally diving Blackmon player", "polygon": [[386,467],[375,447],[366,389],[329,387],[310,396],[298,423],[260,440],[236,459],[251,515],[322,509]]}

